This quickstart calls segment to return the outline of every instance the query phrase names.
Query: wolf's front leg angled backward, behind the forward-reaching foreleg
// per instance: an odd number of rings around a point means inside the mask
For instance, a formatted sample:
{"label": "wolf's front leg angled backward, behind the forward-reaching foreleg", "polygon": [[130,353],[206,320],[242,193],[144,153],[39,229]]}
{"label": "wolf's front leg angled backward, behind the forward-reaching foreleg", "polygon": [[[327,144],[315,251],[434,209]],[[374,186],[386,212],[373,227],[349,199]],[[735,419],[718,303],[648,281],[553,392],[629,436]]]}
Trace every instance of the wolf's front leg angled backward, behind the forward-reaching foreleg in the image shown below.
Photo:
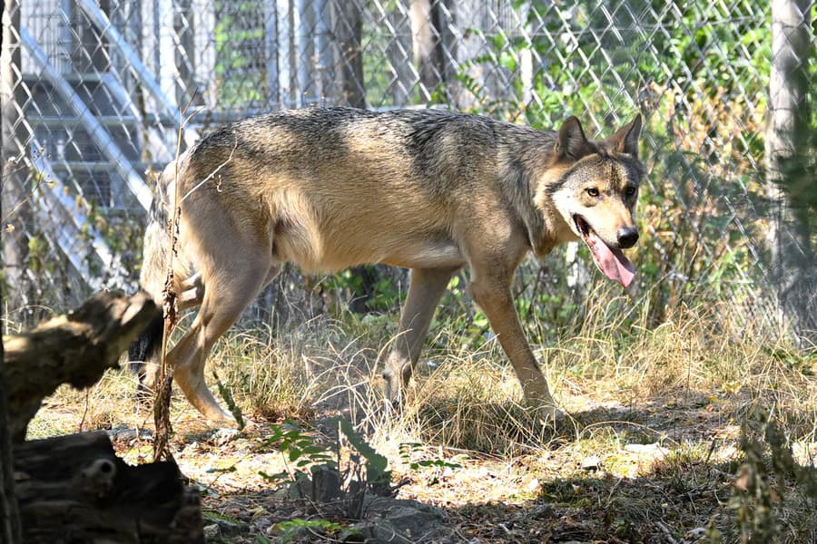
{"label": "wolf's front leg angled backward, behind the forward-reaching foreleg", "polygon": [[400,390],[417,365],[420,350],[428,334],[428,325],[448,280],[459,267],[414,268],[408,284],[408,296],[400,315],[400,327],[386,368],[383,370],[384,393],[391,402],[399,402]]}

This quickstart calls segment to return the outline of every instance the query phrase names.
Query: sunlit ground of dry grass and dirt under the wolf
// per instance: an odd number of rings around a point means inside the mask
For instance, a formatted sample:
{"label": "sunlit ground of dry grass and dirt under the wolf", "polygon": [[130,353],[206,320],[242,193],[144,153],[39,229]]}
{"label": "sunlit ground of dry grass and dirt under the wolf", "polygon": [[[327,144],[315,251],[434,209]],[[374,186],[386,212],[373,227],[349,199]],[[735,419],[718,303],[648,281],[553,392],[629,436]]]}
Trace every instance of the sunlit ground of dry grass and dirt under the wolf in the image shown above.
{"label": "sunlit ground of dry grass and dirt under the wolf", "polygon": [[[294,335],[274,349],[246,331],[222,343],[211,364],[248,418],[241,432],[212,429],[174,395],[172,455],[202,491],[209,541],[362,541],[389,518],[395,542],[761,542],[765,529],[753,523],[767,502],[769,535],[815,541],[813,356],[710,346],[691,357],[685,333],[674,337],[673,356],[662,351],[670,336],[651,334],[625,348],[653,357],[648,363],[579,365],[598,339],[562,345],[539,354],[552,363],[548,379],[565,413],[554,422],[521,403],[495,342],[432,348],[397,414],[374,393],[377,331],[349,339],[327,330],[331,338]],[[29,438],[104,428],[125,461],[151,461],[152,415],[136,407],[134,389],[125,371],[88,392],[61,389]],[[270,441],[281,429],[330,451],[340,443],[341,467],[351,463],[353,448],[331,423],[338,414],[388,459],[399,487],[395,498],[369,496],[362,521],[349,519],[348,502],[293,497],[291,486],[261,475],[292,471],[305,455]],[[788,471],[770,425],[785,434]]]}

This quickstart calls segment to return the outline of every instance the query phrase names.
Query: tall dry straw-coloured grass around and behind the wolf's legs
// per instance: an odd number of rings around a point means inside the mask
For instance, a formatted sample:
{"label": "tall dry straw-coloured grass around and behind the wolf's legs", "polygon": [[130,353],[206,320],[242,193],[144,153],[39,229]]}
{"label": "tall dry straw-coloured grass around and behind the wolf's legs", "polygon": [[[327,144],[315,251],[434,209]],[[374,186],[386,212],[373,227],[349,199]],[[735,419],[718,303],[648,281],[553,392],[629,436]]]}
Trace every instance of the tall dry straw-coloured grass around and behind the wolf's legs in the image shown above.
{"label": "tall dry straw-coloured grass around and behind the wolf's legs", "polygon": [[[219,375],[251,418],[309,420],[340,411],[379,436],[478,452],[546,448],[571,432],[575,438],[599,407],[708,401],[724,420],[763,406],[792,438],[815,441],[817,355],[754,330],[727,303],[676,309],[650,326],[649,308],[624,297],[601,292],[587,300],[599,302],[566,326],[573,334],[531,336],[566,413],[556,427],[523,403],[495,337],[475,343],[447,326],[432,331],[402,409],[387,410],[378,362],[394,340],[397,316],[318,317],[276,335],[263,326],[233,330],[216,345],[208,374]],[[527,324],[535,332],[546,325]],[[104,423],[133,412],[123,409],[133,403],[132,386],[129,374],[110,374],[89,393],[66,388],[53,402],[82,402],[89,425]]]}

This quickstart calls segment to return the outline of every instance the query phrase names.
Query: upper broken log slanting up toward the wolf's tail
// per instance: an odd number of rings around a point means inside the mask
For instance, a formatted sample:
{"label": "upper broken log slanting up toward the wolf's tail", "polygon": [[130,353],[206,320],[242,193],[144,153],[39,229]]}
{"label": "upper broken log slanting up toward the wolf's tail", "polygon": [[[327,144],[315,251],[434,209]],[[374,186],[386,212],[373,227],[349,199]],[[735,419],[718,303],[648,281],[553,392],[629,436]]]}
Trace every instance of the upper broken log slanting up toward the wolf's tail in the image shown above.
{"label": "upper broken log slanting up toward the wolf's tail", "polygon": [[79,309],[21,335],[5,336],[5,386],[12,441],[23,442],[28,422],[60,384],[89,387],[156,315],[150,296],[112,292],[92,296]]}

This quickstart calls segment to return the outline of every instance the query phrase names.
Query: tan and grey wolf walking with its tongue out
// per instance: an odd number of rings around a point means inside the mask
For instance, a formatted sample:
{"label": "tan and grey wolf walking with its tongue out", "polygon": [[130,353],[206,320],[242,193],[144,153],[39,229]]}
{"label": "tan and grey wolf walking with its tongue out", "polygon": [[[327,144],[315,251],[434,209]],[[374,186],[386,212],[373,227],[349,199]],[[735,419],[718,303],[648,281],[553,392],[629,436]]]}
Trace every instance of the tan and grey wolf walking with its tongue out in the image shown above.
{"label": "tan and grey wolf walking with its tongue out", "polygon": [[[212,422],[234,423],[204,383],[205,358],[282,263],[307,273],[384,263],[411,269],[382,371],[396,401],[449,278],[468,267],[468,293],[526,399],[554,410],[514,307],[514,271],[528,252],[582,239],[606,277],[630,284],[622,249],[638,239],[640,131],[640,116],[590,141],[576,117],[537,131],[441,110],[315,108],[212,132],[163,171],[145,234],[141,286],[161,306],[168,219],[181,207],[173,289],[182,308],[201,307],[167,355],[176,383]],[[156,363],[161,331],[160,319],[132,359]]]}

